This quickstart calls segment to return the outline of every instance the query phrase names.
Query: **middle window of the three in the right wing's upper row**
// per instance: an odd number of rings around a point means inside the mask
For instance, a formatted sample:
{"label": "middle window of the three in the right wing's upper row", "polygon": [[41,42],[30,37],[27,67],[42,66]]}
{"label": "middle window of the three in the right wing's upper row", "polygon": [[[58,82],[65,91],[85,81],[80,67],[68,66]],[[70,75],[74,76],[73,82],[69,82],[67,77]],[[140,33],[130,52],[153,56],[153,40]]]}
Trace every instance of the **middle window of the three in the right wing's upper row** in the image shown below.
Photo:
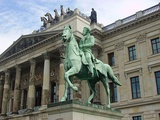
{"label": "middle window of the three in the right wing's upper row", "polygon": [[128,47],[129,61],[136,60],[136,48],[135,45]]}

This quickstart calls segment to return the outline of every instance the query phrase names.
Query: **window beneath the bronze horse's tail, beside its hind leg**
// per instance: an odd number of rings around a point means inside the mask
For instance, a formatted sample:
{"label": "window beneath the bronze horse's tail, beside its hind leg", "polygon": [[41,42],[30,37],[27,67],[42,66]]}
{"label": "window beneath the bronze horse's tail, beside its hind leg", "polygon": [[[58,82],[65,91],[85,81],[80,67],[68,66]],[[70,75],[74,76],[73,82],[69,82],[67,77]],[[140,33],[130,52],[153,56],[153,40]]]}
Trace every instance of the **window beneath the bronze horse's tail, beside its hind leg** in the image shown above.
{"label": "window beneath the bronze horse's tail, beside its hind leg", "polygon": [[109,83],[109,88],[110,88],[110,100],[111,103],[117,102],[117,86],[114,83]]}

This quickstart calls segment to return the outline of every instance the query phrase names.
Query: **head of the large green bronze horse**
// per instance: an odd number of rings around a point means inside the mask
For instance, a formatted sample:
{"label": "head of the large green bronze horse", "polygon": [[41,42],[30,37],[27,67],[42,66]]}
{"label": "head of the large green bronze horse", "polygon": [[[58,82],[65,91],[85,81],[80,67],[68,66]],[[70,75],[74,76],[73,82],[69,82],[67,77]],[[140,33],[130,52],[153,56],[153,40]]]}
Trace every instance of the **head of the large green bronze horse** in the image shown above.
{"label": "head of the large green bronze horse", "polygon": [[63,42],[69,42],[72,36],[72,30],[70,25],[64,26],[62,40]]}

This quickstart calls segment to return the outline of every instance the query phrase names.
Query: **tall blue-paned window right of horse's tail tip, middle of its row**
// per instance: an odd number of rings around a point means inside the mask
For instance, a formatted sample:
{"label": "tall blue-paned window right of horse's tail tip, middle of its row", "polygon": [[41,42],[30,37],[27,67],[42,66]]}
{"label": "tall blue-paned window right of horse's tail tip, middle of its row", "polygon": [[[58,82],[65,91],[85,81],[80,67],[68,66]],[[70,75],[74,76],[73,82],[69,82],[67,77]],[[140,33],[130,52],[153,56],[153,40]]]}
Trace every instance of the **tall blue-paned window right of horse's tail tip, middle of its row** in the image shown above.
{"label": "tall blue-paned window right of horse's tail tip, middle of its row", "polygon": [[132,89],[132,98],[140,98],[140,85],[139,85],[139,77],[132,77],[131,78],[131,89]]}

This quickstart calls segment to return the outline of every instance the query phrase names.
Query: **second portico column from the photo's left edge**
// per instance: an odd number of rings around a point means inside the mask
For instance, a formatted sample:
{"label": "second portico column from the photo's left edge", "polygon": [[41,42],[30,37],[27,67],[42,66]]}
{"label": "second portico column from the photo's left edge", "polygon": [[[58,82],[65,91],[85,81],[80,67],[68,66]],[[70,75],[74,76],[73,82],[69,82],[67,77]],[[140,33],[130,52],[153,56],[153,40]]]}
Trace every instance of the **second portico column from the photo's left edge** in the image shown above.
{"label": "second portico column from the photo's left edge", "polygon": [[5,71],[5,82],[4,82],[4,88],[3,88],[3,102],[2,102],[2,115],[5,115],[7,113],[7,103],[8,103],[8,94],[9,94],[9,77],[10,72],[9,70]]}

